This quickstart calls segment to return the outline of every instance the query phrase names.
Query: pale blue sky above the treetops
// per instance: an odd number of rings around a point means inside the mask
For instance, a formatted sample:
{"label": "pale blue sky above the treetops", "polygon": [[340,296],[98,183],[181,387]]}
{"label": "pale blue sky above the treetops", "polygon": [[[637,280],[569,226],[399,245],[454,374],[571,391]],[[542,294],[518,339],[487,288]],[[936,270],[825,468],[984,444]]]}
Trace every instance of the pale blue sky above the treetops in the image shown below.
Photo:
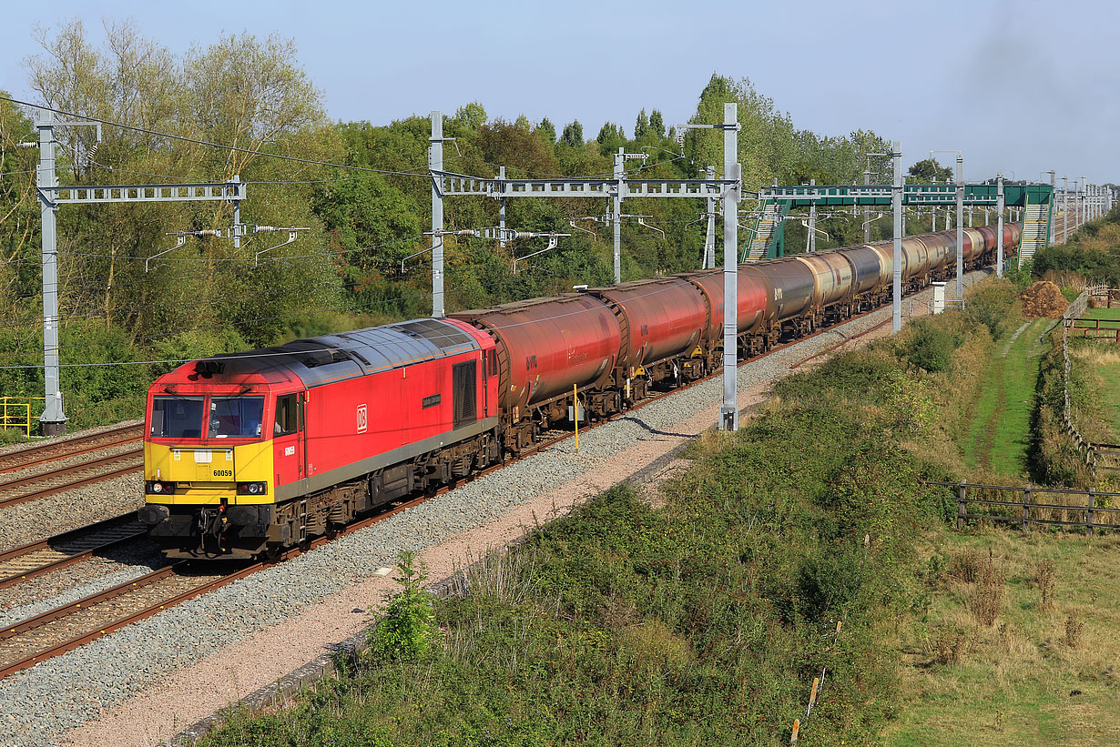
{"label": "pale blue sky above the treetops", "polygon": [[[32,95],[22,60],[38,24],[133,18],[181,53],[223,31],[291,37],[337,120],[383,123],[479,101],[492,116],[604,121],[640,109],[684,121],[713,72],[748,77],[799,128],[869,128],[906,162],[964,151],[965,177],[1120,181],[1116,35],[1104,1],[292,2],[54,0],[6,3],[0,88]],[[1110,54],[1111,53],[1111,54]],[[951,155],[940,155],[945,162]]]}

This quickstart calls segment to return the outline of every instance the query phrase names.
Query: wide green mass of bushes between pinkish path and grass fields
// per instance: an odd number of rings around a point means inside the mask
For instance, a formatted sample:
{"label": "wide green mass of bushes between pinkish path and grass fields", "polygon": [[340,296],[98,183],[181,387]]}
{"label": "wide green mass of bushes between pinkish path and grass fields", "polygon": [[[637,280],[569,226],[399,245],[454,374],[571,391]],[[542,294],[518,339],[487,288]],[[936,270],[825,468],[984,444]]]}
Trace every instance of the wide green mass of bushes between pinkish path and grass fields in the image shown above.
{"label": "wide green mass of bushes between pinkish path and grass fields", "polygon": [[922,478],[961,476],[943,412],[1014,307],[992,286],[782,380],[738,433],[691,448],[657,507],[617,487],[489,559],[433,603],[431,653],[364,661],[199,744],[780,745],[822,666],[803,735],[877,744],[897,702],[884,642],[928,599],[915,545],[954,512]]}

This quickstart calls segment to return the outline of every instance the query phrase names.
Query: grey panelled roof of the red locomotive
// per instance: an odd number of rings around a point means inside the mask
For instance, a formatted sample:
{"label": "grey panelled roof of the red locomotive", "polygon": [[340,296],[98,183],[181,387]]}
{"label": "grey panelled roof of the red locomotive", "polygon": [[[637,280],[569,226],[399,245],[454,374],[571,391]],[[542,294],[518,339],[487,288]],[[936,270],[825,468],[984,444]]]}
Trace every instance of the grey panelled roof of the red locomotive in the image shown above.
{"label": "grey panelled roof of the red locomotive", "polygon": [[206,361],[223,364],[223,376],[295,377],[311,387],[477,349],[478,342],[454,324],[412,319],[296,339],[249,353],[215,355]]}

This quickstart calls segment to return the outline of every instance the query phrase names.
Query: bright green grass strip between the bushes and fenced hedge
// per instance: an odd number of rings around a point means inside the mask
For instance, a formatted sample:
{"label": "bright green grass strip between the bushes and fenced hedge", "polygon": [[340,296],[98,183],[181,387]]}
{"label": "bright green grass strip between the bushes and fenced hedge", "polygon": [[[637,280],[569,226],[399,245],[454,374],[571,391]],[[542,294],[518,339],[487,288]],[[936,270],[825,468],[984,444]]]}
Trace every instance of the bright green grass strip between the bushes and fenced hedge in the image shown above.
{"label": "bright green grass strip between the bushes and fenced hedge", "polygon": [[969,468],[1025,476],[1038,361],[1046,344],[1043,337],[1053,324],[1053,319],[1024,323],[997,346],[963,445]]}

